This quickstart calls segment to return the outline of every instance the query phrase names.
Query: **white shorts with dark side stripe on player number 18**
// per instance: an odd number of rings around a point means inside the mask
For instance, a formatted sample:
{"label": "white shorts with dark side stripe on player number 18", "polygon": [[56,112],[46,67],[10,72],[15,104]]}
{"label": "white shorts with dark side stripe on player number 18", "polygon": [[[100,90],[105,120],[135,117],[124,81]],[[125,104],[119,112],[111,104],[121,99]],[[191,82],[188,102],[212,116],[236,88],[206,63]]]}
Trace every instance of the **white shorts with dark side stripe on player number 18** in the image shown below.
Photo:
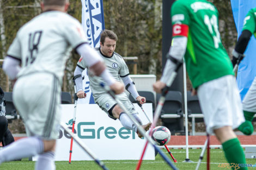
{"label": "white shorts with dark side stripe on player number 18", "polygon": [[13,100],[28,136],[44,140],[58,138],[60,84],[53,74],[34,73],[19,78],[14,86]]}

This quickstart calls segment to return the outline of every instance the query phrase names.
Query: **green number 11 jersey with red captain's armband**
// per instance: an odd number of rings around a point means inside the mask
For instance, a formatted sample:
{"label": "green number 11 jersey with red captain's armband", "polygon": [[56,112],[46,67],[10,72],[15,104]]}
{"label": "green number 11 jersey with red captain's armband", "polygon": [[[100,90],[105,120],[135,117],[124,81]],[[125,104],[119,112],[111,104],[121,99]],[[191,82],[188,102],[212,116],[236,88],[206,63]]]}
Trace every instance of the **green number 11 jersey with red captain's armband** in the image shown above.
{"label": "green number 11 jersey with red captain's armband", "polygon": [[218,11],[212,3],[178,0],[172,5],[171,16],[173,38],[187,36],[185,62],[194,88],[224,75],[234,75],[218,32]]}

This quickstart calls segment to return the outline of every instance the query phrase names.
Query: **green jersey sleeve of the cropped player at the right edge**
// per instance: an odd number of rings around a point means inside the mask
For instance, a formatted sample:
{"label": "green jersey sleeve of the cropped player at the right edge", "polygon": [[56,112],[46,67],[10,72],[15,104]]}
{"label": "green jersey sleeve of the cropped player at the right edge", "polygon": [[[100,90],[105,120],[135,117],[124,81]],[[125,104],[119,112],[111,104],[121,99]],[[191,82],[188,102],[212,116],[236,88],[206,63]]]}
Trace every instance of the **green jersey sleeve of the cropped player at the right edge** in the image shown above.
{"label": "green jersey sleeve of the cropped player at the right edge", "polygon": [[249,10],[243,20],[243,30],[247,29],[256,37],[256,8]]}

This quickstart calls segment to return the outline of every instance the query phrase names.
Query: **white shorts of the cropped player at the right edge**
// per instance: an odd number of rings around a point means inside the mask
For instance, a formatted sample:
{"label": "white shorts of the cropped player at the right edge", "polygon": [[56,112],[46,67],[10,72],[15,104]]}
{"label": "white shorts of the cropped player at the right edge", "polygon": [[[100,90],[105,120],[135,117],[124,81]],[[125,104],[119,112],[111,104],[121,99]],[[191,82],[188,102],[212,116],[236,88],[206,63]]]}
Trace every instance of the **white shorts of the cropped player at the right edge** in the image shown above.
{"label": "white shorts of the cropped player at the right edge", "polygon": [[243,110],[256,112],[256,77],[254,78],[252,85],[246,93],[245,98],[243,98],[242,104]]}

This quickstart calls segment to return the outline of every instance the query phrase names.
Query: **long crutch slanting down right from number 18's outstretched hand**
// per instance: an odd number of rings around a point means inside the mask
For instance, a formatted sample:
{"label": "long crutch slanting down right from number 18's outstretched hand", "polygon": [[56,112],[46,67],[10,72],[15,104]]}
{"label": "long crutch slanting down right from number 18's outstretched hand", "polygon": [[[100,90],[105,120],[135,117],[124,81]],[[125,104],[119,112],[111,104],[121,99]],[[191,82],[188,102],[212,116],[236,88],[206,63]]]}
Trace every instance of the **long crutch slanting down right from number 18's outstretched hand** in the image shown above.
{"label": "long crutch slanting down right from number 18's outstretched hand", "polygon": [[133,123],[136,124],[139,133],[143,134],[143,136],[147,139],[147,142],[149,142],[156,150],[157,152],[159,152],[159,154],[162,156],[162,158],[164,159],[164,161],[166,161],[168,163],[168,165],[170,167],[172,167],[174,170],[178,170],[178,168],[176,168],[172,161],[170,161],[168,159],[168,157],[156,146],[155,142],[153,141],[153,139],[148,135],[145,134],[145,130],[141,127],[141,125],[139,125],[138,121],[127,111],[127,109],[125,108],[125,106],[115,97],[115,94],[112,90],[109,89],[109,87],[105,86],[103,83],[100,84],[105,90],[106,92],[115,100],[115,102],[117,102],[117,104],[120,106],[120,108],[126,113],[126,115],[131,119],[131,121]]}

